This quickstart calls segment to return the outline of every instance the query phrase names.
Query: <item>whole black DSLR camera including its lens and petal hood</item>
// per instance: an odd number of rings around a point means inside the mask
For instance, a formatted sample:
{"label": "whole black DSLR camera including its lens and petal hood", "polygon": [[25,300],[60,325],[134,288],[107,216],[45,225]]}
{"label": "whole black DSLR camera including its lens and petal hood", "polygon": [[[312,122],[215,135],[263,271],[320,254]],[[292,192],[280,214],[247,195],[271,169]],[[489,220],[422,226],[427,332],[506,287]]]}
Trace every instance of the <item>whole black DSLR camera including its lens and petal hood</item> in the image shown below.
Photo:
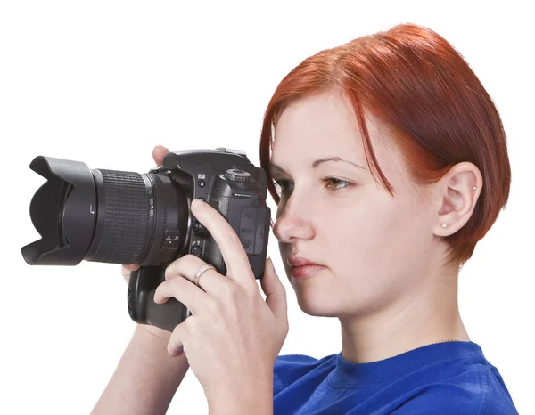
{"label": "whole black DSLR camera including its lens and petal hood", "polygon": [[169,151],[148,174],[90,170],[79,161],[43,156],[30,168],[47,182],[30,204],[42,239],[21,249],[26,262],[139,264],[128,282],[128,313],[137,323],[172,331],[191,315],[175,298],[162,305],[153,301],[165,269],[178,257],[199,256],[226,274],[218,245],[191,213],[193,199],[226,218],[255,278],[263,276],[271,220],[267,179],[244,151]]}

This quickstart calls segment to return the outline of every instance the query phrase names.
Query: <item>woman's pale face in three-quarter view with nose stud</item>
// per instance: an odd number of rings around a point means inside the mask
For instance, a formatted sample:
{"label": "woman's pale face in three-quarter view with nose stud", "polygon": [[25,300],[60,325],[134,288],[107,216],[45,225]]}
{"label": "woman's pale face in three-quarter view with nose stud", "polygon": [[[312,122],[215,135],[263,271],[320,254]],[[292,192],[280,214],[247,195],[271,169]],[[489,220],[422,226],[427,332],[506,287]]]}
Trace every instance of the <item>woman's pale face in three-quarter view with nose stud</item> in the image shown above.
{"label": "woman's pale face in three-quarter view with nose stud", "polygon": [[[432,232],[436,211],[418,197],[386,129],[368,118],[395,197],[375,182],[352,114],[348,102],[324,94],[292,104],[276,126],[271,164],[285,173],[271,168],[282,186],[274,233],[300,308],[310,315],[364,315],[406,300],[417,295],[439,257]],[[327,157],[348,162],[313,167]],[[289,256],[325,268],[296,279]]]}

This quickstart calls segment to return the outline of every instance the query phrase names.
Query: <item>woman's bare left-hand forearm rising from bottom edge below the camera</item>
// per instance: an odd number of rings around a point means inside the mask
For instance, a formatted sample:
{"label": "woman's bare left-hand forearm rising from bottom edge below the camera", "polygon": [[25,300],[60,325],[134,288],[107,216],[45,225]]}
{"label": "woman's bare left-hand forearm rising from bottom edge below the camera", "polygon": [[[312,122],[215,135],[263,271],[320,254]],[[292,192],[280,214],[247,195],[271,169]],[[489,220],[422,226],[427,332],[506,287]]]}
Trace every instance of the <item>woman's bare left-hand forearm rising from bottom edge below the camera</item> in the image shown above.
{"label": "woman's bare left-hand forearm rising from bottom edge below the camera", "polygon": [[165,338],[137,327],[91,413],[165,414],[188,369],[185,354],[170,357]]}

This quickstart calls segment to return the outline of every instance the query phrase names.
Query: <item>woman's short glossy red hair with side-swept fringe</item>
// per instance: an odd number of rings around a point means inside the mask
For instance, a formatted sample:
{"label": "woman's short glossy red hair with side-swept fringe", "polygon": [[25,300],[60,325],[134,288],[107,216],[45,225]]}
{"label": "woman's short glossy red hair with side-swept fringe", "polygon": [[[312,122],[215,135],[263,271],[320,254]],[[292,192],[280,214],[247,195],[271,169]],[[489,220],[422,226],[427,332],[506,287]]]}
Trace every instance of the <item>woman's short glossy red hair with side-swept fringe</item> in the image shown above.
{"label": "woman's short glossy red hair with side-swept fringe", "polygon": [[483,187],[473,215],[444,238],[447,264],[464,264],[506,207],[511,167],[498,110],[461,54],[431,29],[401,24],[320,51],[292,69],[268,104],[259,145],[260,166],[276,204],[280,199],[268,166],[277,119],[292,102],[332,91],[349,99],[370,171],[392,196],[374,155],[365,110],[391,128],[416,183],[436,183],[462,161],[480,169]]}

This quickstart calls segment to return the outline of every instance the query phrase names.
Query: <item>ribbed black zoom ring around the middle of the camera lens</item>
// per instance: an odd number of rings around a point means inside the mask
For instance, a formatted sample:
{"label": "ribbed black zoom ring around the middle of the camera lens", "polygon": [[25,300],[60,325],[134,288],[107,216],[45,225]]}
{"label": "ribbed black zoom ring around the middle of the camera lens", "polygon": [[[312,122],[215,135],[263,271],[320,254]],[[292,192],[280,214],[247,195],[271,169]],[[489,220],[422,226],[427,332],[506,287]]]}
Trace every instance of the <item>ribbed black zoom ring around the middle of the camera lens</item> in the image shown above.
{"label": "ribbed black zoom ring around the middle of the camera lens", "polygon": [[103,236],[92,261],[138,264],[149,232],[150,205],[144,179],[134,172],[99,171],[106,208]]}

